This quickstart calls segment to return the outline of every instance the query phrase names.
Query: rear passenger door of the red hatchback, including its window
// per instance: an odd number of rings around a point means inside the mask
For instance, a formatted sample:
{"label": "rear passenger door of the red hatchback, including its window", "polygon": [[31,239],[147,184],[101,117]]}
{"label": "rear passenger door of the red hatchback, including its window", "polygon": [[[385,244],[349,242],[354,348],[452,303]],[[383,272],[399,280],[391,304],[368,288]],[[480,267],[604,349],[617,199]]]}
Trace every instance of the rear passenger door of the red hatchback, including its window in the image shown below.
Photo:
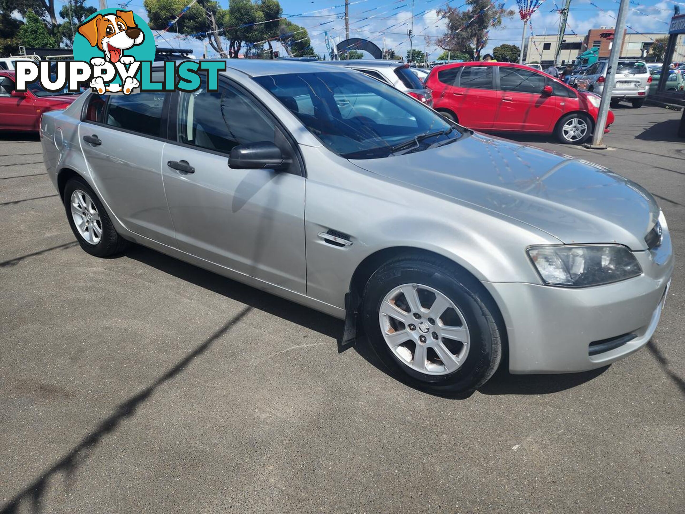
{"label": "rear passenger door of the red hatchback, including its window", "polygon": [[499,105],[493,78],[494,66],[462,66],[451,88],[450,106],[460,125],[476,130],[493,127]]}

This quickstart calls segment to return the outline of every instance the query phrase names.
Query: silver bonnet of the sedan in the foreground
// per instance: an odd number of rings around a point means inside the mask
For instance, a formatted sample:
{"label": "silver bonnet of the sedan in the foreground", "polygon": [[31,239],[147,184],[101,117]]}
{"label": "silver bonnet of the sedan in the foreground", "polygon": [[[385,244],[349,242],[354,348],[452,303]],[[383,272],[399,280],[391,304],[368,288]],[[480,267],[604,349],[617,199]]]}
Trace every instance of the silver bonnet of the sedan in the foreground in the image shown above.
{"label": "silver bonnet of the sedan in the foreground", "polygon": [[[564,243],[646,249],[659,208],[642,187],[596,164],[480,134],[356,166],[499,212]],[[426,206],[430,208],[429,206]]]}

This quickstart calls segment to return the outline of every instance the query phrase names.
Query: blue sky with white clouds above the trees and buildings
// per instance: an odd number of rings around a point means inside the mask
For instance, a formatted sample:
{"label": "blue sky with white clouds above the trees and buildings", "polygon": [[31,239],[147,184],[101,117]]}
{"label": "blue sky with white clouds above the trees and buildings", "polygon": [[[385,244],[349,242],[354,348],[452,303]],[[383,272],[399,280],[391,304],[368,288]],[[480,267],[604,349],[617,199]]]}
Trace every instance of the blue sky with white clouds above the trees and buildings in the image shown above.
{"label": "blue sky with white clouds above the trees and buildings", "polygon": [[[119,0],[122,1],[122,0]],[[116,7],[119,1],[108,0],[108,7]],[[125,0],[123,0],[125,1]],[[188,0],[190,1],[190,0]],[[219,0],[225,8],[228,0]],[[66,0],[58,0],[59,4]],[[95,2],[89,2],[98,5]],[[308,29],[314,51],[326,53],[324,30],[336,42],[345,38],[344,0],[280,0],[284,16],[293,23]],[[414,16],[412,19],[412,0],[351,0],[349,8],[349,23],[351,37],[369,38],[379,47],[393,48],[398,54],[406,55],[409,40],[406,34],[412,21],[414,23],[414,48],[426,49],[430,58],[436,58],[442,50],[435,45],[435,36],[445,31],[445,21],[440,19],[437,10],[445,5],[458,7],[463,0],[414,0]],[[555,11],[562,7],[563,0],[545,0],[531,19],[535,34],[555,34],[558,32],[559,15]],[[673,5],[680,3],[685,12],[685,0],[631,0],[631,10],[627,24],[634,30],[628,32],[665,33],[668,21],[673,16]],[[508,0],[507,8],[516,10],[516,1]],[[147,20],[147,13],[142,0],[132,0],[128,8],[134,10]],[[584,36],[588,29],[601,26],[612,27],[615,24],[619,8],[619,0],[571,0],[569,25],[566,34],[575,32]],[[299,15],[299,16],[291,16]],[[484,49],[491,51],[493,47],[502,43],[521,44],[523,24],[519,16],[504,23],[503,27],[490,31],[490,40]],[[530,29],[527,29],[530,35]],[[162,47],[192,48],[199,57],[203,51],[202,42],[194,38],[177,38],[175,34],[167,32],[164,39],[158,38],[157,45]],[[225,45],[227,47],[227,45]],[[212,49],[209,47],[210,56]]]}

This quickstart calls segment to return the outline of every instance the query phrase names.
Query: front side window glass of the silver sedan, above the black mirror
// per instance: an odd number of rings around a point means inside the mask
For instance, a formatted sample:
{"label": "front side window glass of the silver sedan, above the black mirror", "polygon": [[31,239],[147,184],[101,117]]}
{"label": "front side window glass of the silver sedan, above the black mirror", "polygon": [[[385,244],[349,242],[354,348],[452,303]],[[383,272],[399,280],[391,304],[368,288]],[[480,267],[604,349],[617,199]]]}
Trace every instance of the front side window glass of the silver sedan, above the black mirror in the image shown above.
{"label": "front side window glass of the silver sedan, above the black mirror", "polygon": [[203,80],[195,93],[181,95],[179,142],[229,153],[238,145],[275,141],[275,125],[245,93],[221,83],[210,93],[206,86]]}

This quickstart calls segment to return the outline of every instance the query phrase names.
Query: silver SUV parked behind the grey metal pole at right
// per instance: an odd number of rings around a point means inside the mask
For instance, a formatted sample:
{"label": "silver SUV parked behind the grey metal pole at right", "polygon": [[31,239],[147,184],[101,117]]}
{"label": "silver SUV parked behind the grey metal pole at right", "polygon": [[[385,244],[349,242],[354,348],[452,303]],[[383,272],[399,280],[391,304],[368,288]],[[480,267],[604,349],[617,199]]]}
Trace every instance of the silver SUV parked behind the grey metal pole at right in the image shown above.
{"label": "silver SUV parked behind the grey metal pole at right", "polygon": [[[608,61],[595,62],[582,76],[577,77],[578,81],[585,82],[587,90],[591,93],[601,95],[606,84],[608,64]],[[618,105],[619,101],[630,101],[634,108],[643,106],[652,81],[645,61],[619,60],[615,81],[614,90],[611,93],[612,106]]]}

